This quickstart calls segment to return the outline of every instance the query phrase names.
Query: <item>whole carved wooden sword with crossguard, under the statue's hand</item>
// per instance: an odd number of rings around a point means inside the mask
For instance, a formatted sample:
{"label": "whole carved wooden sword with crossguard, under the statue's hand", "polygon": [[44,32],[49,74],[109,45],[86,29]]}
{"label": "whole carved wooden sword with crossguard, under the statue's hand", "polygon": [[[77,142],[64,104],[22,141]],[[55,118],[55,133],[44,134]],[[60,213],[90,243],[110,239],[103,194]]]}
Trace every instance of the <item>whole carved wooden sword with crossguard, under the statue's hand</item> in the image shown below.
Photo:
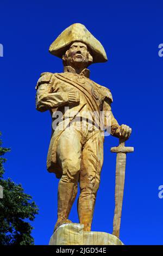
{"label": "whole carved wooden sword with crossguard, under the statue's hand", "polygon": [[124,179],[126,169],[126,154],[133,152],[133,147],[125,147],[124,139],[120,139],[118,147],[111,148],[112,153],[117,153],[116,158],[116,185],[115,185],[115,210],[112,234],[120,237],[122,202],[124,192]]}

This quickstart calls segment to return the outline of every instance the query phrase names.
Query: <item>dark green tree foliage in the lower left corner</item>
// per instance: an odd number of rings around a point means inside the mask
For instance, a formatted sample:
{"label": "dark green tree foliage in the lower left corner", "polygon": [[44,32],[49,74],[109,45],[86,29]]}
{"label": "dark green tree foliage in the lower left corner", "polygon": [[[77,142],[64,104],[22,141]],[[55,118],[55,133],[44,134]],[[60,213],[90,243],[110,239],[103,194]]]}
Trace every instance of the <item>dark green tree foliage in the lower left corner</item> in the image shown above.
{"label": "dark green tree foliage in the lower left corner", "polygon": [[34,245],[31,236],[33,227],[29,222],[38,214],[38,208],[32,202],[32,197],[24,193],[21,184],[16,184],[10,178],[3,179],[6,159],[2,156],[10,149],[1,145],[0,140],[0,185],[3,187],[3,198],[0,198],[0,245]]}

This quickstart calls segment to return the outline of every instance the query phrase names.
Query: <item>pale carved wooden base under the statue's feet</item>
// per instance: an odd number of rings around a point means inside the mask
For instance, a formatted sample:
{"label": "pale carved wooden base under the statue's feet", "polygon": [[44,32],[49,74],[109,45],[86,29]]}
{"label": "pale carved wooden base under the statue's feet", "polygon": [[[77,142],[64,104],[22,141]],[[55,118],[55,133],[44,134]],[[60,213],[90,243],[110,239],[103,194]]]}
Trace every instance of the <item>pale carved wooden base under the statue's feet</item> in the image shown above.
{"label": "pale carved wooden base under the statue's feet", "polygon": [[79,223],[62,224],[51,236],[49,245],[123,245],[115,235],[83,231],[83,228]]}

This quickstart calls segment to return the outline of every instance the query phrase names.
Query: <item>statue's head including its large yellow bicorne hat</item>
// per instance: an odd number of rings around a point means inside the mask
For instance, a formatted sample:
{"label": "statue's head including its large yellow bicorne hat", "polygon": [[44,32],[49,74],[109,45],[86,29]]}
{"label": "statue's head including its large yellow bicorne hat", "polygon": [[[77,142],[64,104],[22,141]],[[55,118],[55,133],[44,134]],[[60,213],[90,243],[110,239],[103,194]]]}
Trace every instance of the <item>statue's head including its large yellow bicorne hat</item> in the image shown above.
{"label": "statue's head including its large yellow bicorne hat", "polygon": [[74,23],[66,28],[52,42],[49,52],[62,58],[64,65],[75,65],[76,69],[108,60],[101,42],[80,23]]}

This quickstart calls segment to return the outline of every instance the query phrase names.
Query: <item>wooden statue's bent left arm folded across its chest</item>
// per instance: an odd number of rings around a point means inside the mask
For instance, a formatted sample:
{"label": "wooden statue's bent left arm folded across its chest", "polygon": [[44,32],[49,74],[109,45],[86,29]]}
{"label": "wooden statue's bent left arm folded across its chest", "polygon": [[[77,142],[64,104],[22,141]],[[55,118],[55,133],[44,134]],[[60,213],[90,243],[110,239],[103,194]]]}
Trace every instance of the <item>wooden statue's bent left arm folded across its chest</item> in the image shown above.
{"label": "wooden statue's bent left arm folded across its chest", "polygon": [[77,92],[53,92],[52,83],[54,83],[52,73],[44,73],[36,85],[36,109],[44,112],[47,109],[64,106],[74,102],[79,102]]}

